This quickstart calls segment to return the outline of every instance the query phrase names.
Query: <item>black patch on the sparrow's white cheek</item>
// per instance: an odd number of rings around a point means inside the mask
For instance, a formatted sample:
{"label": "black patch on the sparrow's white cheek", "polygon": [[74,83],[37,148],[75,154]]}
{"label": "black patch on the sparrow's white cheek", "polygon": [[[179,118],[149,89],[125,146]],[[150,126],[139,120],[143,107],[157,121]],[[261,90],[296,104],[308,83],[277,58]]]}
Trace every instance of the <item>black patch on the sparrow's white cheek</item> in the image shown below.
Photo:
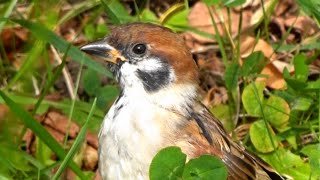
{"label": "black patch on the sparrow's white cheek", "polygon": [[156,71],[137,70],[137,76],[142,80],[143,87],[148,92],[156,92],[170,83],[169,65],[164,65]]}

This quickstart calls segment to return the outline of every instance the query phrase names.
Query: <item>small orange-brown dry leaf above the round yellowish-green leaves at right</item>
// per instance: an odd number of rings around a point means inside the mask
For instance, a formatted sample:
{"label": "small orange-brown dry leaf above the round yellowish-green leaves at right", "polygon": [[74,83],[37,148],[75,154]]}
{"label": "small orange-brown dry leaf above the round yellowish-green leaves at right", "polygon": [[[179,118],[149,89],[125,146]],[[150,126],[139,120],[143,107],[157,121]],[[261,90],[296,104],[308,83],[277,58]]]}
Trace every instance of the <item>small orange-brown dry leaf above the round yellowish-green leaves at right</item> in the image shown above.
{"label": "small orange-brown dry leaf above the round yellowish-green leaves at right", "polygon": [[283,79],[282,73],[272,64],[269,63],[264,67],[261,74],[267,75],[268,77],[257,78],[256,81],[265,82],[267,87],[272,89],[284,89],[285,81]]}

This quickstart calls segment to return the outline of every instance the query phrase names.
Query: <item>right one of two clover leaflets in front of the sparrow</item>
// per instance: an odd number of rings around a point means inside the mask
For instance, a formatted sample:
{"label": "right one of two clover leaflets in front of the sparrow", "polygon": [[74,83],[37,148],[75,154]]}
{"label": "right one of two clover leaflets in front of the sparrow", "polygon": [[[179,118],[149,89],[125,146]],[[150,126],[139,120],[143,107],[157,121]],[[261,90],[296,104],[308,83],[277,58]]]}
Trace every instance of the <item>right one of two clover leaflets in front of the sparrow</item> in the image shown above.
{"label": "right one of two clover leaflets in front of the sparrow", "polygon": [[225,180],[228,177],[228,170],[224,163],[217,157],[202,155],[199,158],[191,159],[183,171],[184,180]]}

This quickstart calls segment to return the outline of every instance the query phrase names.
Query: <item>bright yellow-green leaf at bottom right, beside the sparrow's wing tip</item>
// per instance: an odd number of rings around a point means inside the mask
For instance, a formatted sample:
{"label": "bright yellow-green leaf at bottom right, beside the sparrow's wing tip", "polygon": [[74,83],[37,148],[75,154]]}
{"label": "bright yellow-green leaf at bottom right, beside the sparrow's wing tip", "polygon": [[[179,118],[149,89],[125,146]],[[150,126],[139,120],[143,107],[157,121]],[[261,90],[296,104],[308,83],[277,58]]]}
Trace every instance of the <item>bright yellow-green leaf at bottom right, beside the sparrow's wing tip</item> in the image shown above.
{"label": "bright yellow-green leaf at bottom right, beside the sparrow's wing tip", "polygon": [[310,166],[300,156],[289,150],[279,148],[277,151],[259,156],[274,167],[280,174],[286,174],[293,179],[309,179]]}

